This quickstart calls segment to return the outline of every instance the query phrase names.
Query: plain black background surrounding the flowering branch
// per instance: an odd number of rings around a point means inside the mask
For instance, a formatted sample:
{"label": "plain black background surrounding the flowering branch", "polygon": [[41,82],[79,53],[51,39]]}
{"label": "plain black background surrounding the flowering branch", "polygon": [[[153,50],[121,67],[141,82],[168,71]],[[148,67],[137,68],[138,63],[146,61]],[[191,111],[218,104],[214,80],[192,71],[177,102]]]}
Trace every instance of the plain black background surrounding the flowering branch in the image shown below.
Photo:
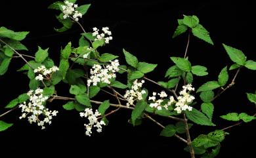
{"label": "plain black background surrounding the flowering branch", "polygon": [[[188,56],[192,65],[206,66],[209,71],[207,77],[194,77],[194,87],[199,87],[205,81],[216,80],[219,71],[224,66],[230,66],[226,52],[221,43],[243,50],[247,58],[255,58],[255,5],[252,1],[242,3],[216,3],[215,1],[186,3],[179,1],[77,1],[79,5],[91,3],[91,8],[80,20],[85,30],[92,31],[93,27],[108,26],[113,33],[113,41],[100,52],[110,52],[120,56],[120,62],[125,63],[122,49],[135,54],[140,61],[158,64],[156,71],[147,77],[155,81],[163,81],[165,71],[173,65],[170,56],[183,56],[186,47],[187,33],[172,39],[171,36],[177,27],[177,19],[182,14],[195,14],[200,23],[210,32],[215,43],[211,46],[196,37],[192,37]],[[33,55],[37,46],[43,49],[49,47],[49,55],[58,65],[60,47],[69,41],[77,47],[81,30],[75,26],[64,33],[56,33],[53,28],[60,27],[54,17],[54,10],[47,9],[53,1],[1,1],[0,26],[15,31],[30,31],[24,44],[28,47],[27,54]],[[21,60],[13,59],[11,69],[0,77],[1,97],[0,111],[10,100],[23,92],[28,91],[28,79],[16,69],[24,64]],[[230,71],[230,77],[235,71]],[[213,102],[215,117],[213,122],[216,128],[232,125],[219,119],[229,111],[247,112],[253,114],[254,107],[246,99],[245,92],[255,92],[254,71],[242,69],[238,75],[236,85]],[[167,80],[165,80],[167,81]],[[148,89],[158,91],[158,87],[146,83]],[[56,87],[60,94],[68,95],[67,85]],[[66,90],[66,91],[65,91]],[[105,94],[102,94],[105,95]],[[197,94],[195,94],[197,96]],[[104,96],[107,98],[107,96]],[[198,96],[197,96],[198,98]],[[102,98],[98,97],[102,101]],[[114,100],[115,101],[115,100]],[[200,101],[198,99],[198,101]],[[85,136],[84,120],[77,111],[64,111],[65,102],[49,104],[51,109],[58,109],[60,113],[53,119],[53,124],[45,130],[37,125],[30,125],[25,119],[20,121],[20,111],[16,110],[1,118],[15,125],[0,133],[1,154],[24,155],[34,157],[62,156],[72,157],[189,157],[183,151],[185,144],[177,138],[163,138],[159,136],[160,127],[148,120],[139,127],[133,127],[127,120],[131,111],[121,109],[118,113],[108,117],[110,124],[104,127],[101,134]],[[158,117],[163,125],[172,123]],[[205,134],[216,128],[198,127],[191,130],[192,138],[198,134]],[[218,157],[255,157],[255,122],[231,128],[230,135],[222,143]],[[1,157],[9,157],[9,156]]]}

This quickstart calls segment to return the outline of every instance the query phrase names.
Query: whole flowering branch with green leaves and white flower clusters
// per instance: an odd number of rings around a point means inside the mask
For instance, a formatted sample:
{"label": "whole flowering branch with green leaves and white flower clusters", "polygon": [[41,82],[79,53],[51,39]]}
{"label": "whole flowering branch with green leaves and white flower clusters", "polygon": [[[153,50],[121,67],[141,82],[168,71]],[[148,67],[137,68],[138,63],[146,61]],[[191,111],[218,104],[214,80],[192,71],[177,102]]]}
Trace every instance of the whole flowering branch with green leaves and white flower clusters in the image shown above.
{"label": "whole flowering branch with green leaves and white flower clusters", "polygon": [[[182,57],[171,57],[170,64],[172,65],[165,73],[167,81],[156,82],[145,77],[145,74],[154,71],[157,64],[139,62],[136,56],[125,49],[123,49],[123,54],[126,64],[120,63],[118,56],[114,54],[98,52],[98,47],[108,45],[113,37],[108,27],[84,30],[79,19],[89,7],[90,5],[78,6],[75,0],[58,1],[49,6],[49,9],[60,11],[56,17],[63,27],[56,31],[69,30],[73,24],[81,27],[82,31],[79,47],[74,48],[72,43],[68,43],[64,49],[60,50],[60,63],[58,64],[54,64],[54,61],[49,58],[48,49],[41,49],[41,47],[38,47],[35,56],[21,54],[19,51],[27,50],[27,48],[20,41],[26,37],[28,32],[15,32],[1,26],[0,75],[7,72],[12,58],[21,58],[25,65],[18,71],[23,71],[30,79],[29,90],[25,90],[24,94],[20,94],[5,106],[7,111],[0,115],[1,119],[16,109],[20,110],[20,115],[15,117],[28,119],[28,123],[35,123],[39,128],[44,129],[54,123],[54,117],[58,117],[58,113],[61,113],[61,111],[54,110],[54,107],[48,108],[47,102],[68,100],[63,108],[77,110],[77,115],[85,121],[85,135],[91,136],[93,132],[104,132],[104,126],[108,125],[108,115],[124,108],[131,110],[130,123],[139,125],[142,119],[149,119],[162,128],[161,136],[174,136],[184,142],[186,144],[184,150],[188,151],[191,157],[195,155],[215,157],[227,134],[226,129],[255,119],[253,111],[249,114],[232,112],[214,116],[236,122],[236,124],[223,129],[216,128],[196,138],[190,137],[192,123],[212,127],[217,124],[212,122],[213,100],[234,85],[240,70],[242,68],[256,70],[256,62],[247,60],[241,50],[223,44],[224,50],[234,64],[221,69],[216,77],[217,80],[207,81],[200,87],[194,87],[193,77],[204,76],[208,73],[207,68],[192,65],[193,62],[187,58],[190,36],[194,35],[213,45],[209,32],[203,28],[197,16],[184,15],[178,20],[173,37],[188,32],[186,51]],[[74,68],[75,64],[77,66]],[[231,73],[234,73],[233,77],[230,77]],[[127,76],[127,83],[117,81],[119,75]],[[58,95],[55,85],[60,82],[69,85],[70,96]],[[158,85],[162,90],[148,92],[144,83]],[[200,94],[200,98],[195,97],[196,93]],[[109,94],[109,97],[116,98],[116,102],[93,100],[96,95],[101,94]],[[256,104],[255,93],[248,92],[247,98],[251,104]],[[153,115],[172,119],[176,123],[162,125],[152,117]],[[0,121],[0,131],[11,126],[12,123]]]}

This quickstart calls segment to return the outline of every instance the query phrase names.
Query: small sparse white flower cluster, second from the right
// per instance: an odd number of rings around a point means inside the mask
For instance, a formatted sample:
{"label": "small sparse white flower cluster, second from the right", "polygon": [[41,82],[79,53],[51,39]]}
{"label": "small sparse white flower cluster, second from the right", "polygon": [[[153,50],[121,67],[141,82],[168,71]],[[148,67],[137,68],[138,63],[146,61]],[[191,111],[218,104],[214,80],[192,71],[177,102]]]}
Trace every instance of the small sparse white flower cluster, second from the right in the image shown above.
{"label": "small sparse white flower cluster, second from the right", "polygon": [[168,109],[168,106],[171,106],[175,102],[173,96],[169,97],[169,100],[167,104],[163,104],[164,99],[167,97],[167,94],[164,91],[161,91],[158,93],[158,96],[160,96],[160,99],[156,100],[156,92],[153,92],[153,96],[150,96],[148,100],[152,100],[152,103],[150,103],[151,108],[157,108],[158,110],[161,110],[161,108]]}

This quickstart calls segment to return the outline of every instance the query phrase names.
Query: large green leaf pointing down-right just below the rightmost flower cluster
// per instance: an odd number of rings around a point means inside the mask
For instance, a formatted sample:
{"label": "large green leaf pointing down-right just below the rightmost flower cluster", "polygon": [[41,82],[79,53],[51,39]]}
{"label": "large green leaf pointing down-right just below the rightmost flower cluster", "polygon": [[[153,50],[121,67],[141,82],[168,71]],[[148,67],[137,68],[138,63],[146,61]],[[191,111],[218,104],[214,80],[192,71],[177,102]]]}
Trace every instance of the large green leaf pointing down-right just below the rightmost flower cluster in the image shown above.
{"label": "large green leaf pointing down-right just below the rightmost flower cluster", "polygon": [[198,125],[215,126],[202,112],[193,108],[192,111],[185,111],[186,117]]}

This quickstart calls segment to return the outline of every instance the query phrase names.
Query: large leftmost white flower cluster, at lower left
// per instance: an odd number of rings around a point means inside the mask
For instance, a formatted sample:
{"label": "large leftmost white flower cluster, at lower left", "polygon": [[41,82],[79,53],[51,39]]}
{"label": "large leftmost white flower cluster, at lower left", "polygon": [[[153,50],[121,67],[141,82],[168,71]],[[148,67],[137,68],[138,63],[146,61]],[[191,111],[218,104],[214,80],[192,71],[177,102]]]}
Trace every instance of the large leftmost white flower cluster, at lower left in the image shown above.
{"label": "large leftmost white flower cluster, at lower left", "polygon": [[[30,102],[26,104],[20,104],[19,108],[22,109],[22,115],[20,119],[28,117],[30,123],[37,123],[42,129],[45,128],[45,124],[51,124],[51,119],[56,116],[58,111],[51,111],[45,108],[45,101],[47,96],[43,96],[43,89],[30,90],[27,94],[30,97]],[[30,116],[28,116],[30,115]]]}

